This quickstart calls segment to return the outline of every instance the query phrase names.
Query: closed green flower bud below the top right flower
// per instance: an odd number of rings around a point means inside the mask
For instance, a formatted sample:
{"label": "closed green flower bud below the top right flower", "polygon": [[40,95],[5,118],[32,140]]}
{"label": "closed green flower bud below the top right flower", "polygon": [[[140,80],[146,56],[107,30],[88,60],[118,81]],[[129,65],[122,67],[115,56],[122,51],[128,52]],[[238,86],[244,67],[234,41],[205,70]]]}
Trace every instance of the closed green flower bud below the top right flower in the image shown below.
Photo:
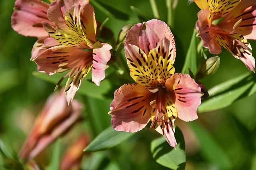
{"label": "closed green flower bud below the top right flower", "polygon": [[214,74],[220,65],[220,57],[215,56],[206,60],[202,60],[198,66],[198,70],[196,73],[196,80],[200,80],[206,76],[210,76]]}

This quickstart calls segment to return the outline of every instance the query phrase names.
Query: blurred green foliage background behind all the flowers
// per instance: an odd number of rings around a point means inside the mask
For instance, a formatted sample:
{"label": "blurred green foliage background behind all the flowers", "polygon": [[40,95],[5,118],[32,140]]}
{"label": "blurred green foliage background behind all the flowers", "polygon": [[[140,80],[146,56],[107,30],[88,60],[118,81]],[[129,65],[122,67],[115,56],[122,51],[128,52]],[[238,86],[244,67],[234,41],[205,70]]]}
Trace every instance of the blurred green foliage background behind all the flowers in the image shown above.
{"label": "blurred green foliage background behind all the flowers", "polygon": [[[36,115],[55,87],[55,84],[32,74],[37,69],[36,64],[30,61],[31,49],[36,38],[24,37],[12,30],[10,21],[14,2],[15,0],[0,0],[0,145],[10,150],[13,155],[19,152]],[[91,1],[98,21],[103,22],[109,17],[106,27],[113,31],[115,39],[124,25],[153,18],[149,0],[98,0],[97,2],[104,2],[109,7],[124,12],[128,17],[108,15],[102,9],[96,8],[95,0]],[[166,1],[158,0],[156,4],[160,20],[166,21]],[[144,13],[139,19],[138,13],[131,10],[131,6],[145,11],[148,15]],[[176,72],[182,70],[198,11],[196,4],[188,4],[186,0],[178,1],[174,11],[174,22],[170,27],[177,46],[174,63]],[[256,43],[252,41],[250,43],[254,49],[253,55],[256,56]],[[208,57],[210,56],[212,55]],[[210,89],[247,72],[249,70],[241,61],[234,59],[223,50],[218,71],[213,76],[203,79],[202,83]],[[115,82],[113,76],[109,76],[100,86],[102,89],[107,89],[108,95],[94,97],[93,94],[84,95],[87,93],[83,92],[76,95],[76,98],[84,104],[85,121],[76,125],[61,139],[62,145],[71,143],[79,132],[88,133],[92,140],[110,126],[111,117],[107,114],[109,104],[114,90],[122,85],[120,82]],[[98,88],[90,81],[84,81],[92,88]],[[90,91],[90,88],[86,90]],[[186,169],[256,170],[255,112],[256,95],[253,94],[223,109],[200,113],[196,121],[190,123],[177,121],[186,143]],[[85,156],[82,169],[167,169],[152,158],[150,142],[156,137],[160,135],[147,127],[113,149]],[[44,166],[50,162],[50,158],[46,155],[51,154],[51,148],[52,146],[38,158]],[[0,158],[1,162],[4,162],[3,158]]]}

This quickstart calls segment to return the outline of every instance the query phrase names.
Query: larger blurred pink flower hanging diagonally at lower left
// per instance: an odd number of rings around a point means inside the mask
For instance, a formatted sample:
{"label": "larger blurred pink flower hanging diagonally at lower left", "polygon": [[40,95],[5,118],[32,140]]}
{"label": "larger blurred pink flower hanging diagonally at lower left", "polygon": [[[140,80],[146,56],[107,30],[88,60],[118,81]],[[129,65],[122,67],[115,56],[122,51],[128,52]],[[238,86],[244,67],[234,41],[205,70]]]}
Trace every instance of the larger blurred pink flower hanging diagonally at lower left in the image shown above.
{"label": "larger blurred pink flower hanging diagonally at lower left", "polygon": [[36,118],[32,130],[20,150],[20,157],[30,160],[40,154],[78,121],[81,111],[82,104],[76,100],[67,106],[64,89],[59,94],[52,94]]}

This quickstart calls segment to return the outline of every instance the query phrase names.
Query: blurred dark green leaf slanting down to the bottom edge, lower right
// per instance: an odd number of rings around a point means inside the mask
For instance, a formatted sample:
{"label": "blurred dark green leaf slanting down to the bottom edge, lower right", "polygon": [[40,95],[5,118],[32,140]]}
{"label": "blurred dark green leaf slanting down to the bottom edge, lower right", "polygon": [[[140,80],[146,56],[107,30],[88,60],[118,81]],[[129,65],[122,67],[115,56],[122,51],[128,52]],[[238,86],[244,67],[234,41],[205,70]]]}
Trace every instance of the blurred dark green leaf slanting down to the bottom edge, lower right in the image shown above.
{"label": "blurred dark green leaf slanting down to the bottom edge, lower right", "polygon": [[230,169],[231,160],[228,158],[224,150],[216,143],[214,137],[208,133],[203,127],[198,123],[190,122],[190,125],[196,137],[200,142],[200,152],[206,160],[210,161],[213,164],[218,165],[219,169]]}

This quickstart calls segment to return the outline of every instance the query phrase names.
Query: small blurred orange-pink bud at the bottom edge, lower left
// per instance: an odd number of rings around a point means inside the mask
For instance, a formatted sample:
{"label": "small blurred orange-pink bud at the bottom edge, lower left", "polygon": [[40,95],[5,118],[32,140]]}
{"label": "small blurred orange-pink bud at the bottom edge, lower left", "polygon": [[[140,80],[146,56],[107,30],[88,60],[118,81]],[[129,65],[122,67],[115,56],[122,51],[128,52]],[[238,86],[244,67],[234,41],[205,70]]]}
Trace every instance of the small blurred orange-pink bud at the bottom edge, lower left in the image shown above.
{"label": "small blurred orange-pink bud at the bottom edge, lower left", "polygon": [[83,150],[88,143],[89,139],[86,134],[82,134],[74,143],[72,143],[62,157],[60,170],[79,169],[84,156]]}

